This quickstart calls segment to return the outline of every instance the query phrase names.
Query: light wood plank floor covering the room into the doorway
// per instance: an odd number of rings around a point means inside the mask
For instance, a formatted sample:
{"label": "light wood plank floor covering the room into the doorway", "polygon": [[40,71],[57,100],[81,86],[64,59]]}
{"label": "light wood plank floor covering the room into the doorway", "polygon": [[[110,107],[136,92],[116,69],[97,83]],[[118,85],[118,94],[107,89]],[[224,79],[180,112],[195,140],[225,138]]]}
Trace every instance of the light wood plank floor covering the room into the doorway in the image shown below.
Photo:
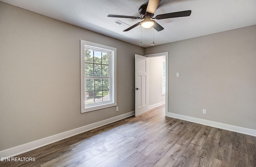
{"label": "light wood plank floor covering the room into the doorway", "polygon": [[164,105],[0,162],[31,167],[255,167],[256,137],[168,118]]}

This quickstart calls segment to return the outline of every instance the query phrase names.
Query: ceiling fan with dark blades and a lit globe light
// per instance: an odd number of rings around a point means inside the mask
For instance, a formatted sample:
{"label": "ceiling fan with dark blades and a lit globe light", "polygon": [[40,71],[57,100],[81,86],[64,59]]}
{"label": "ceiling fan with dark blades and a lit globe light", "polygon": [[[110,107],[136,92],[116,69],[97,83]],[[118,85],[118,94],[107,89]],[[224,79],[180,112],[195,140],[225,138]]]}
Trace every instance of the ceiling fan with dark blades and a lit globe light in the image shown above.
{"label": "ceiling fan with dark blades and a lit globe light", "polygon": [[124,31],[129,31],[132,28],[140,25],[143,28],[151,28],[153,27],[156,31],[161,31],[164,28],[160,26],[157,22],[152,19],[160,20],[160,19],[168,19],[168,18],[178,18],[178,17],[185,17],[190,16],[191,10],[180,11],[180,12],[173,12],[173,13],[166,13],[166,14],[159,14],[155,18],[153,18],[156,9],[161,0],[149,0],[147,4],[143,4],[139,8],[140,17],[136,16],[122,16],[122,15],[114,15],[109,14],[108,17],[112,18],[131,18],[131,19],[143,19],[141,22],[134,24],[133,26],[125,29]]}

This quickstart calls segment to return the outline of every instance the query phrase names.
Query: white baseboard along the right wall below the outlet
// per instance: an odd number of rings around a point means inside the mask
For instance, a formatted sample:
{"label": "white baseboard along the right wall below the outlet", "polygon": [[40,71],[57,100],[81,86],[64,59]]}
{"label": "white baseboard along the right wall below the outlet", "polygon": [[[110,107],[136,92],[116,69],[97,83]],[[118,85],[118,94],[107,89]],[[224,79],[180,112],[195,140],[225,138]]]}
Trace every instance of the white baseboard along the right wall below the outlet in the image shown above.
{"label": "white baseboard along the right wall below the outlet", "polygon": [[171,117],[171,118],[177,118],[177,119],[180,119],[180,120],[189,121],[189,122],[194,122],[194,123],[202,124],[202,125],[206,125],[206,126],[212,126],[214,128],[229,130],[229,131],[232,131],[232,132],[238,132],[240,134],[256,136],[256,130],[243,128],[243,127],[240,127],[240,126],[234,126],[234,125],[229,125],[229,124],[223,124],[223,123],[220,123],[220,122],[203,120],[203,119],[200,119],[200,118],[194,118],[194,117],[190,117],[190,116],[174,114],[174,113],[171,113],[171,112],[167,112],[166,116]]}

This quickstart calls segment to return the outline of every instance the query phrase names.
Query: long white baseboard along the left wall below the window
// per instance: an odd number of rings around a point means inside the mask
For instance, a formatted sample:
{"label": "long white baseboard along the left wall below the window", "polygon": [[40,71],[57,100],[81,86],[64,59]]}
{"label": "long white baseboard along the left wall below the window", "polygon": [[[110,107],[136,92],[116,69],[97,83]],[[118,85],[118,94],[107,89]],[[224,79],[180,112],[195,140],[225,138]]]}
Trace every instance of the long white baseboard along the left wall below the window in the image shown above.
{"label": "long white baseboard along the left wall below the window", "polygon": [[43,139],[39,139],[39,140],[36,140],[36,141],[32,141],[30,143],[19,145],[17,147],[12,147],[10,149],[0,151],[0,157],[14,157],[15,155],[19,155],[19,154],[31,151],[33,149],[43,147],[45,145],[54,143],[56,141],[60,141],[60,140],[66,139],[66,138],[70,138],[72,136],[75,136],[75,135],[87,132],[89,130],[98,128],[100,126],[111,124],[113,122],[122,120],[124,118],[128,118],[132,115],[134,115],[134,111],[128,112],[126,114],[122,114],[120,116],[116,116],[116,117],[113,117],[113,118],[109,118],[107,120],[103,120],[103,121],[100,121],[100,122],[96,122],[96,123],[93,123],[93,124],[82,126],[80,128],[69,130],[69,131],[66,131],[66,132],[63,132],[63,133],[60,133],[60,134],[49,136],[47,138],[43,138]]}

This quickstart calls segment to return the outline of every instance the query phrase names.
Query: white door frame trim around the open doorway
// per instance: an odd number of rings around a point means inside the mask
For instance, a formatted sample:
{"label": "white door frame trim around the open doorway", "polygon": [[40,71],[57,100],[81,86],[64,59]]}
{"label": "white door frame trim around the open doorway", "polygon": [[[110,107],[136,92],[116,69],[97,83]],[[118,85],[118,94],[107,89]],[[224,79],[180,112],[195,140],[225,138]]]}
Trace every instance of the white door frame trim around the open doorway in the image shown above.
{"label": "white door frame trim around the open doorway", "polygon": [[165,83],[165,116],[167,115],[168,112],[168,66],[169,66],[169,62],[168,62],[168,51],[167,52],[161,52],[161,53],[154,53],[154,54],[148,54],[148,55],[144,55],[146,57],[158,57],[158,56],[165,56],[165,61],[166,61],[166,83]]}

